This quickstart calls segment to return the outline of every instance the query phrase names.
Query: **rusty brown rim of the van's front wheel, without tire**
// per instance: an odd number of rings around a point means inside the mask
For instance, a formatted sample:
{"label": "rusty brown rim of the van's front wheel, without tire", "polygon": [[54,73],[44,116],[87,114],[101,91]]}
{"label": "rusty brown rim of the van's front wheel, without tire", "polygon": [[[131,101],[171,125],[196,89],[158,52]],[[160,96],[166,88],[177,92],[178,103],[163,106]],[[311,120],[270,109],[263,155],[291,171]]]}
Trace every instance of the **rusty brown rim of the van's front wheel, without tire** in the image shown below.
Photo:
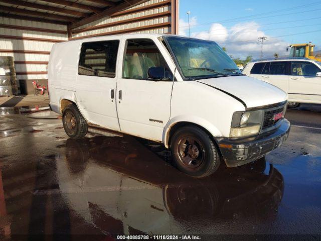
{"label": "rusty brown rim of the van's front wheel, without tire", "polygon": [[197,171],[204,163],[205,150],[202,143],[195,137],[183,137],[178,142],[178,157],[181,164],[188,170]]}

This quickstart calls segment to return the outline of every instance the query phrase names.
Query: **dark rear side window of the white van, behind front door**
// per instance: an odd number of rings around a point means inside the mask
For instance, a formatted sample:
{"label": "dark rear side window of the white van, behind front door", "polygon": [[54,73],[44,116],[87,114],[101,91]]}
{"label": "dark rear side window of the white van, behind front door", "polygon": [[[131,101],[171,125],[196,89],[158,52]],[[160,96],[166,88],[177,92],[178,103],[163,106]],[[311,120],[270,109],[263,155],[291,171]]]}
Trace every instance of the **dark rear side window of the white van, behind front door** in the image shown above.
{"label": "dark rear side window of the white van, behind front door", "polygon": [[83,43],[78,74],[114,78],[119,40]]}

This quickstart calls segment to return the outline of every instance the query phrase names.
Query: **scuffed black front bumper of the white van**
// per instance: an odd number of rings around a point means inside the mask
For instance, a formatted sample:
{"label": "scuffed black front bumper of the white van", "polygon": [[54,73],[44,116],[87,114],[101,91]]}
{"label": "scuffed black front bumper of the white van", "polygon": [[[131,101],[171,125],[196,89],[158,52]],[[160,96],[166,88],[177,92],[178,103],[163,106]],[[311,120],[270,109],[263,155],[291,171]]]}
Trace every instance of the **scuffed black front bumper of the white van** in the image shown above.
{"label": "scuffed black front bumper of the white van", "polygon": [[228,167],[237,167],[263,157],[282,145],[290,132],[290,123],[283,119],[271,132],[244,139],[219,139],[218,144]]}

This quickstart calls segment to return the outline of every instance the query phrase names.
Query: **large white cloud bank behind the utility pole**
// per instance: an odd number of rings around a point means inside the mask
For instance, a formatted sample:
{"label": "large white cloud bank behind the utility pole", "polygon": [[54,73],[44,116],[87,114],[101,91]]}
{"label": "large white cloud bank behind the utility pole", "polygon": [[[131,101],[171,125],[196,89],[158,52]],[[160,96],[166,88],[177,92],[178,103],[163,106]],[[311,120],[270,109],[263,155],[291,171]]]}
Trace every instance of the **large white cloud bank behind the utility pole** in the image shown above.
{"label": "large white cloud bank behind the utility pole", "polygon": [[[195,19],[194,26],[196,24]],[[208,31],[193,32],[191,36],[216,41],[220,46],[226,47],[229,55],[240,58],[245,58],[248,55],[259,58],[261,44],[257,40],[258,37],[267,37],[267,40],[264,41],[263,57],[273,57],[274,53],[278,53],[279,56],[286,56],[286,47],[289,45],[281,39],[275,39],[265,34],[260,30],[259,24],[255,22],[238,23],[230,28],[214,23]]]}

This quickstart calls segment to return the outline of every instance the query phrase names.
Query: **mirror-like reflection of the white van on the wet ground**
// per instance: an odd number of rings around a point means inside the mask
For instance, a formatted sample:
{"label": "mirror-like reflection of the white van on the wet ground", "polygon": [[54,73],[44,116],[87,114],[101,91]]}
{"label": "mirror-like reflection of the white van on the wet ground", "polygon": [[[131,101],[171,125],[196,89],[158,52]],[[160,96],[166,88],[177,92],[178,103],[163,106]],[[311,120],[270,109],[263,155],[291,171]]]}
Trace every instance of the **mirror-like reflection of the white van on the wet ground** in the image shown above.
{"label": "mirror-like reflection of the white van on the wet ground", "polygon": [[56,163],[65,202],[110,234],[217,234],[232,223],[240,232],[245,220],[274,217],[283,196],[283,177],[264,158],[196,180],[128,136],[68,139]]}

